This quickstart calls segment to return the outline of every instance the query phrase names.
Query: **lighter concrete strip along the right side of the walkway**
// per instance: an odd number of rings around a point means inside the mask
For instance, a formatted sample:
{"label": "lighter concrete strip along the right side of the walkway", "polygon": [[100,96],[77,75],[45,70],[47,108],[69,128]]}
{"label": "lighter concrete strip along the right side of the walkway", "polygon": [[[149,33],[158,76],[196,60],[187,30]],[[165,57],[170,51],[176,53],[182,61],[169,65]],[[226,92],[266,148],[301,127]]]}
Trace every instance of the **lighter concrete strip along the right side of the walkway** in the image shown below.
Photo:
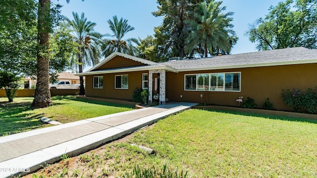
{"label": "lighter concrete strip along the right side of the walkway", "polygon": [[[75,156],[94,149],[102,144],[130,134],[144,126],[151,125],[167,116],[189,109],[190,106],[178,106],[157,114],[143,117],[128,123],[124,123],[106,130],[76,138],[61,144],[57,144],[39,151],[35,151],[17,158],[0,163],[0,169],[10,169],[9,172],[0,172],[0,177],[24,176],[30,174],[46,164],[52,164],[61,160],[63,154]],[[56,126],[54,126],[56,127]],[[32,162],[30,162],[32,160]],[[25,172],[24,172],[25,171]]]}

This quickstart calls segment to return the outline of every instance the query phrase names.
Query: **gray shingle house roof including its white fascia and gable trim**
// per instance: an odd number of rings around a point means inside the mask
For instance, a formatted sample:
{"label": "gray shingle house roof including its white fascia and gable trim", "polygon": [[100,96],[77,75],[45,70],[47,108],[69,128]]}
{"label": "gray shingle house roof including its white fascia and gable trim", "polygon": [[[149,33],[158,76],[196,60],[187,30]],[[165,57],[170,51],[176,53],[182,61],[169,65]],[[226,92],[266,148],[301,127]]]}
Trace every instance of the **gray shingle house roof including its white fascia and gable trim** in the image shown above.
{"label": "gray shingle house roof including its white fascia and gable trim", "polygon": [[[135,58],[127,54],[112,53],[110,57],[122,55],[125,57]],[[107,59],[107,58],[106,58]],[[145,59],[139,59],[144,60]],[[167,62],[152,62],[149,61],[147,66],[133,66],[125,68],[105,69],[76,74],[77,76],[85,76],[92,74],[116,73],[116,72],[131,72],[142,70],[164,69],[172,72],[194,71],[194,70],[212,70],[212,69],[230,69],[244,67],[260,67],[274,65],[289,65],[289,64],[305,64],[317,63],[317,49],[307,49],[305,47],[292,47],[285,49],[274,49],[267,51],[249,52],[242,54],[222,55],[200,59],[185,59]]]}

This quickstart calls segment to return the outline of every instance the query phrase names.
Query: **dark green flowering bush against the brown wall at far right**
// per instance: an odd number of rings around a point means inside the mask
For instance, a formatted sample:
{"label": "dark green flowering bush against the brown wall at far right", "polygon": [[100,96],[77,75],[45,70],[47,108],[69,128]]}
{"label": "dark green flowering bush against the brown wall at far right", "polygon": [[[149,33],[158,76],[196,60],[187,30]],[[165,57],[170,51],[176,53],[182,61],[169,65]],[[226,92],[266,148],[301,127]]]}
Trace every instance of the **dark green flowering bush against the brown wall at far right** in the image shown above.
{"label": "dark green flowering bush against the brown wall at far right", "polygon": [[282,89],[282,98],[285,104],[295,112],[317,113],[317,88],[305,89]]}

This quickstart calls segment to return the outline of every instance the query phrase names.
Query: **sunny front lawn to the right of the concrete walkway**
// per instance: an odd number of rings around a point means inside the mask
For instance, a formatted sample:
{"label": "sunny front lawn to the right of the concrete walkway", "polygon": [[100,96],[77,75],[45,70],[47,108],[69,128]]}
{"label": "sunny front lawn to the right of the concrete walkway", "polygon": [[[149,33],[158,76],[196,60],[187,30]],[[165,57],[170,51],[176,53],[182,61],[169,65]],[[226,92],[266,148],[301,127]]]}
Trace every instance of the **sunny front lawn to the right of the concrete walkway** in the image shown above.
{"label": "sunny front lawn to the right of the concrete walkway", "polygon": [[[43,177],[122,177],[169,164],[192,178],[317,177],[314,120],[191,109],[37,173]],[[148,155],[130,144],[153,148]]]}

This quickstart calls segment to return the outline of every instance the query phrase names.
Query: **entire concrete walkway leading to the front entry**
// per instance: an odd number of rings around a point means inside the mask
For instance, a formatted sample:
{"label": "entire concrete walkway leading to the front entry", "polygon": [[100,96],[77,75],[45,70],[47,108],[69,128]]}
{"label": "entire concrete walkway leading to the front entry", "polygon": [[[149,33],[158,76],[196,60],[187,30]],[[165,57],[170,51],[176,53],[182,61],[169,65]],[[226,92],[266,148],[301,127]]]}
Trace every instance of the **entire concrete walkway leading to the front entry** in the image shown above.
{"label": "entire concrete walkway leading to the front entry", "polygon": [[0,137],[0,178],[26,175],[41,165],[84,153],[197,103],[170,102]]}

